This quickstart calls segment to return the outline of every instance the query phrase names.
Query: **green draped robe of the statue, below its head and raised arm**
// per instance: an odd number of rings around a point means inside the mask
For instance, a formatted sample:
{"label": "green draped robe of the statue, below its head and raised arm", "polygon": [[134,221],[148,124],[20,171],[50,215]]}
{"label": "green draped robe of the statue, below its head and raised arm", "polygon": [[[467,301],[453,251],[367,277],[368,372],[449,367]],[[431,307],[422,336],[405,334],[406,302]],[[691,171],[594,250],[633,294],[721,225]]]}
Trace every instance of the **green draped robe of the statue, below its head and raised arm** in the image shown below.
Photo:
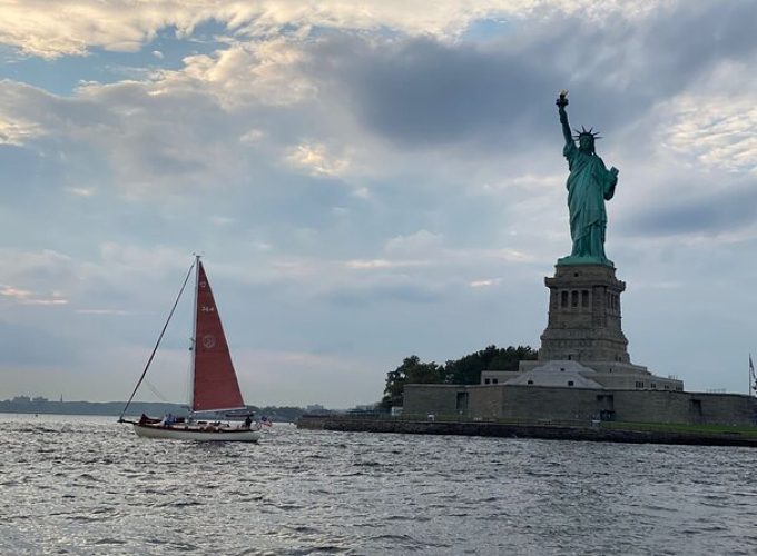
{"label": "green draped robe of the statue, below its head and raised arm", "polygon": [[570,169],[567,187],[570,237],[573,239],[571,257],[607,262],[604,201],[615,195],[618,177],[607,169],[601,158],[581,152],[573,141],[566,143],[562,153]]}

